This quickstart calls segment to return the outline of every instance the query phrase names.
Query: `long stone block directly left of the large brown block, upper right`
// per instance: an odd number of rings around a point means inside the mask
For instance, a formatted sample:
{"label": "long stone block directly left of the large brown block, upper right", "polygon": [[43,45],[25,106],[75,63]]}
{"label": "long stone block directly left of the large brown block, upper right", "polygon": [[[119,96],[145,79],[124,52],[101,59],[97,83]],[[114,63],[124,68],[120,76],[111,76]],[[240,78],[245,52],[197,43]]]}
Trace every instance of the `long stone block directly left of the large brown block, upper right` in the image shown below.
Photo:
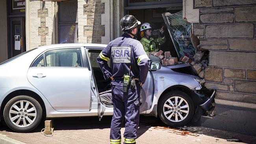
{"label": "long stone block directly left of the large brown block, upper right", "polygon": [[234,23],[233,13],[208,13],[200,14],[200,24],[227,24]]}

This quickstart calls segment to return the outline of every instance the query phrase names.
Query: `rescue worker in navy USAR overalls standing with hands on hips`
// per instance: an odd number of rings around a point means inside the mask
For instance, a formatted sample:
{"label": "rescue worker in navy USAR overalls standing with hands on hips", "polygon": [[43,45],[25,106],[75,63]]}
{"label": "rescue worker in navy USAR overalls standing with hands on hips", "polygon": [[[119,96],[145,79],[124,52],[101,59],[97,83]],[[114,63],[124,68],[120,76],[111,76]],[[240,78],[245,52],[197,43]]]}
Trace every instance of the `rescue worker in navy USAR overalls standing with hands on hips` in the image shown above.
{"label": "rescue worker in navy USAR overalls standing with hands on hips", "polygon": [[[120,21],[124,34],[109,42],[97,58],[105,79],[112,80],[114,111],[110,144],[121,144],[120,129],[123,122],[125,122],[124,144],[136,144],[141,87],[149,70],[149,59],[142,44],[133,39],[139,24],[134,16],[124,16]],[[111,68],[108,66],[108,60]]]}

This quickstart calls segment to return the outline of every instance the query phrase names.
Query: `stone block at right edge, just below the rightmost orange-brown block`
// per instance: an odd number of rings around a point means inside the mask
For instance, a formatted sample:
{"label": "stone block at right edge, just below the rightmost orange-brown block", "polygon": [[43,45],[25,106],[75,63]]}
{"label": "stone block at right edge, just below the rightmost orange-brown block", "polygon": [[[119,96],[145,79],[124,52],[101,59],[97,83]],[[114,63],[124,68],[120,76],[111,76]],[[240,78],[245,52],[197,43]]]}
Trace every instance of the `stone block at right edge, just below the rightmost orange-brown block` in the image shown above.
{"label": "stone block at right edge, just below the rightmost orange-brown block", "polygon": [[235,92],[245,92],[256,94],[256,81],[235,80]]}

